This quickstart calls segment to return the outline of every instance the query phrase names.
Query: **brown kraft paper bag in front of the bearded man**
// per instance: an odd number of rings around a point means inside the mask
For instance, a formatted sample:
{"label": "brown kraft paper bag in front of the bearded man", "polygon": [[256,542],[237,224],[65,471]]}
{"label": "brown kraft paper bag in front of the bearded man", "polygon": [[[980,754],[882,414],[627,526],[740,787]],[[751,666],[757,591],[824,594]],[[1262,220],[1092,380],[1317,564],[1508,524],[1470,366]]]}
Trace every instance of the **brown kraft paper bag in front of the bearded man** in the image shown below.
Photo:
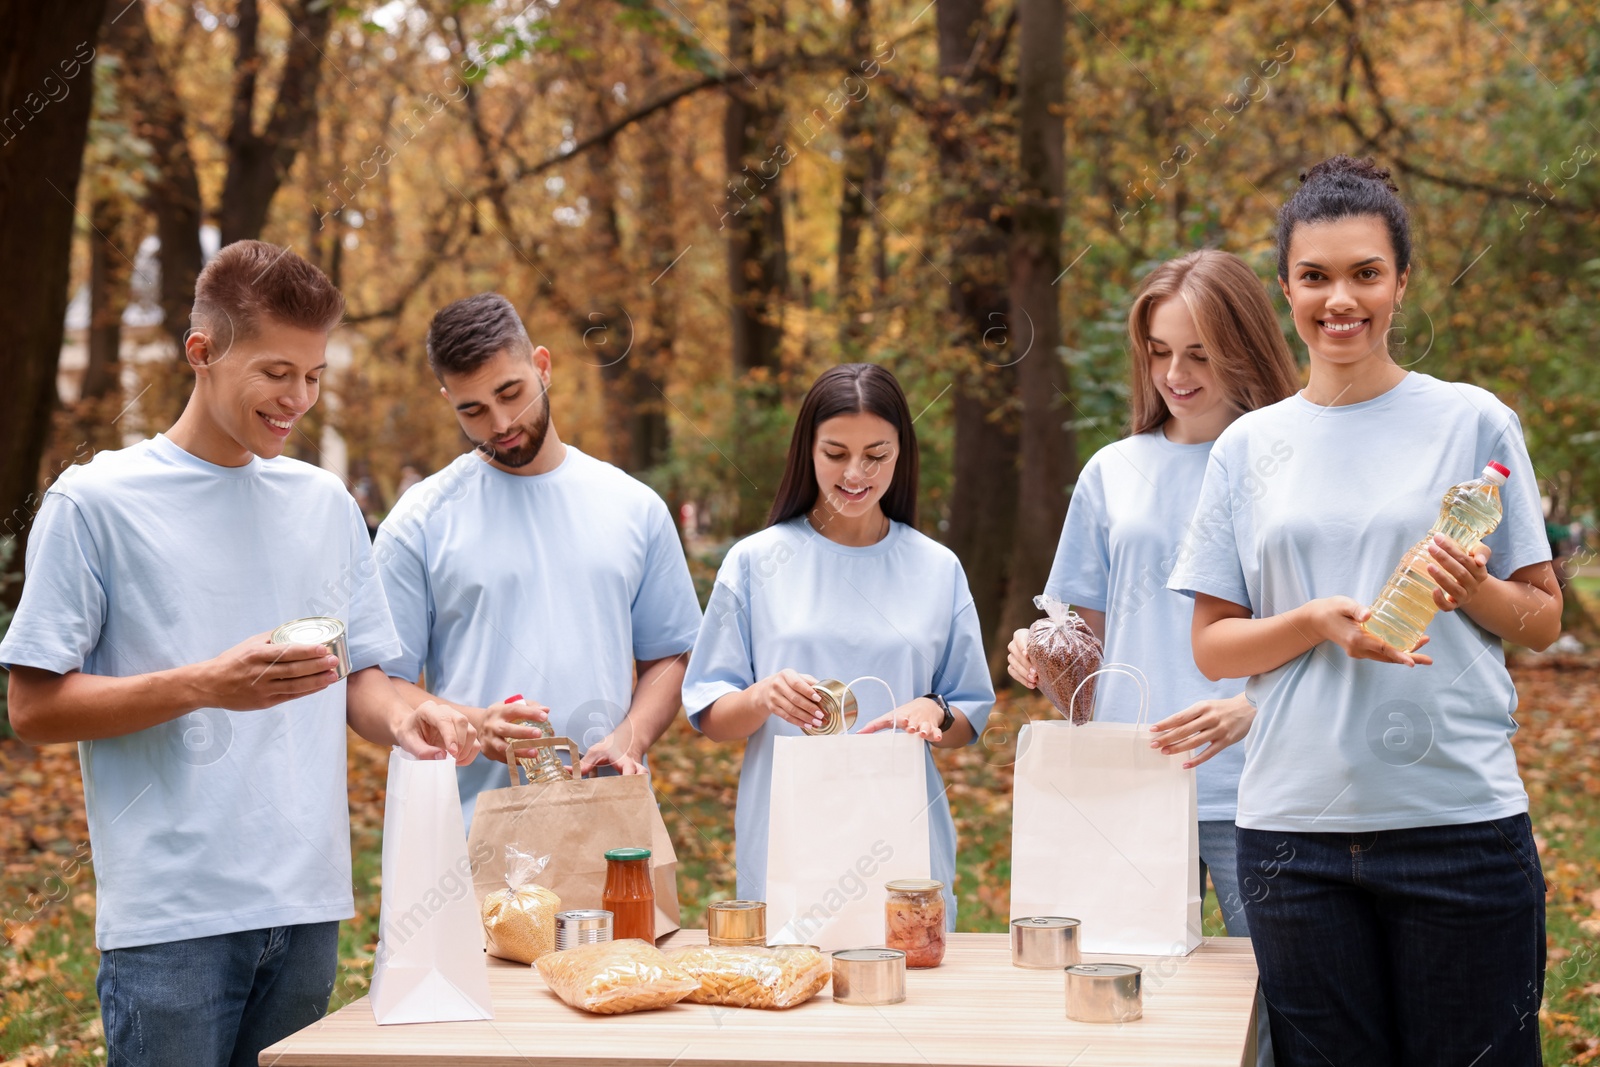
{"label": "brown kraft paper bag in front of the bearded man", "polygon": [[534,883],[562,897],[562,910],[605,907],[606,849],[646,846],[656,888],[656,937],[678,928],[678,856],[648,776],[522,785],[512,763],[510,781],[509,789],[478,793],[472,816],[467,854],[480,907],[485,896],[506,888],[507,845],[550,857]]}

